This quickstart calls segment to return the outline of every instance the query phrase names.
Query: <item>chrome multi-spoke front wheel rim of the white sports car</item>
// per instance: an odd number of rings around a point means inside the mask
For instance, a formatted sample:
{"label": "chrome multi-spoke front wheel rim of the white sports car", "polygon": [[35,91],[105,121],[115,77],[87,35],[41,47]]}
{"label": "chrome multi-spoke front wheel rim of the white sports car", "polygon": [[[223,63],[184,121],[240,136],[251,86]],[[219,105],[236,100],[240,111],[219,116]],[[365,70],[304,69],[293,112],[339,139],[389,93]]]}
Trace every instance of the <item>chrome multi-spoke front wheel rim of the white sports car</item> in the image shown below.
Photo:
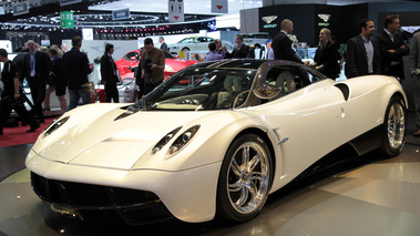
{"label": "chrome multi-spoke front wheel rim of the white sports car", "polygon": [[240,214],[259,211],[268,196],[269,157],[259,143],[243,143],[232,156],[227,172],[227,193]]}

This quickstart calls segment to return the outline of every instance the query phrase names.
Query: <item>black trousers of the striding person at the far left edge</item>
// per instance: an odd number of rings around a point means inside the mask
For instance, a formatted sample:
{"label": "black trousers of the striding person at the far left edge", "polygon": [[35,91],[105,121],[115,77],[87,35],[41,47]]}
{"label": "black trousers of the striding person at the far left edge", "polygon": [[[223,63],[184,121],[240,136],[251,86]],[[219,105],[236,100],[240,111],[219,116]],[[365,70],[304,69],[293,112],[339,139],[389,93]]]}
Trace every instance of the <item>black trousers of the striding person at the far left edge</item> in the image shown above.
{"label": "black trousers of the striding person at the far left edge", "polygon": [[4,93],[3,91],[3,94],[1,95],[1,101],[0,101],[0,131],[3,130],[6,123],[8,122],[8,119],[10,117],[10,113],[12,112],[12,110],[14,110],[18,113],[18,115],[22,119],[22,121],[30,124],[31,126],[35,126],[38,124],[38,122],[28,112],[23,103],[14,100],[13,93],[8,93],[8,92]]}

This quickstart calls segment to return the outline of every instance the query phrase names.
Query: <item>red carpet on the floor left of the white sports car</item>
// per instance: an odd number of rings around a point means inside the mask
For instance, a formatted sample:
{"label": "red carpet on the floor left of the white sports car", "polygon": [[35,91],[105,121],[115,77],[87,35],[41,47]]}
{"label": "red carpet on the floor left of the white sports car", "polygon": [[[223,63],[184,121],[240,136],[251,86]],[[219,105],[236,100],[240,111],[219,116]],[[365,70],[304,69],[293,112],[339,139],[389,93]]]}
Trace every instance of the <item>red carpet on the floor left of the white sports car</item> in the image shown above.
{"label": "red carpet on the floor left of the white sports car", "polygon": [[54,120],[55,117],[47,117],[45,123],[40,124],[35,132],[27,133],[30,125],[19,127],[3,127],[3,135],[0,135],[0,147],[12,146],[19,144],[34,143],[40,133]]}

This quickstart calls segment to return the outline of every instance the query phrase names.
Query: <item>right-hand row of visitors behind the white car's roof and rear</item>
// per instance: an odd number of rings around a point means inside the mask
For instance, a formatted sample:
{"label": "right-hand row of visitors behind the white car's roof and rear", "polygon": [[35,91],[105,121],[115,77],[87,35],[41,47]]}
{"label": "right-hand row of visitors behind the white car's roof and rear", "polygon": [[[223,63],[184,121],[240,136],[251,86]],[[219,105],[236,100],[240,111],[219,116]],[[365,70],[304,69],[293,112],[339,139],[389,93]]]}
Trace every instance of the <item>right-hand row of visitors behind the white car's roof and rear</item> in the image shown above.
{"label": "right-hand row of visitors behind the white car's roof and rear", "polygon": [[[280,24],[281,30],[273,38],[268,59],[288,60],[297,63],[309,64],[297,55],[290,40],[294,30],[291,20],[285,19]],[[319,32],[319,45],[316,50],[314,63],[309,66],[336,79],[339,76],[342,62],[347,79],[369,74],[385,74],[404,80],[402,57],[410,54],[410,72],[414,81],[416,124],[414,136],[420,136],[420,32],[413,37],[413,48],[410,50],[401,35],[398,14],[389,14],[383,20],[383,30],[375,35],[375,23],[370,19],[362,19],[359,23],[360,33],[347,42],[344,55],[338,52],[338,47],[332,40],[331,31],[324,28]],[[206,61],[222,59],[240,59],[249,57],[249,47],[243,43],[243,37],[236,35],[236,45],[232,53],[222,47],[221,40],[208,44],[209,53]]]}

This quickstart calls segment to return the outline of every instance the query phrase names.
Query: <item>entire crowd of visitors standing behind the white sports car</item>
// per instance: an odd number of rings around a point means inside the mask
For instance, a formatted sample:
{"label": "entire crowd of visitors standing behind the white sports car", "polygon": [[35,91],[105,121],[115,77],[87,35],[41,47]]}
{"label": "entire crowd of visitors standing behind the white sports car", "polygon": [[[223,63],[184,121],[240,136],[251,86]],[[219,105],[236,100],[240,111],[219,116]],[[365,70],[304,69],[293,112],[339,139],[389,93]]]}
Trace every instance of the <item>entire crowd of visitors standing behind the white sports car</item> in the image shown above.
{"label": "entire crowd of visitors standing behind the white sports car", "polygon": [[[398,76],[404,80],[402,57],[410,54],[410,71],[414,79],[416,95],[416,136],[420,136],[420,34],[413,37],[413,48],[410,50],[404,39],[400,34],[400,22],[397,14],[387,16],[383,20],[383,30],[375,34],[375,23],[370,19],[363,19],[359,23],[360,33],[347,42],[345,55],[340,55],[338,47],[332,40],[331,31],[324,28],[319,32],[319,45],[316,50],[314,63],[303,61],[293,48],[290,35],[294,30],[291,20],[285,19],[280,24],[280,31],[270,42],[272,49],[268,51],[268,59],[288,60],[301,64],[309,64],[325,75],[336,79],[341,71],[341,63],[346,61],[345,73],[348,79],[368,75],[386,74]],[[165,69],[164,52],[168,51],[164,38],[158,39],[161,48],[155,48],[153,40],[146,38],[144,48],[141,49],[141,61],[136,70],[136,84],[140,88],[139,98],[151,92],[163,82]],[[85,53],[81,52],[82,39],[72,39],[72,49],[66,51],[66,45],[62,49],[51,45],[37,50],[37,44],[29,40],[27,48],[29,53],[24,58],[21,70],[7,59],[6,50],[0,50],[0,61],[4,63],[2,81],[4,90],[0,102],[0,134],[4,126],[10,111],[14,110],[33,132],[39,127],[38,122],[44,122],[43,110],[50,110],[50,95],[55,91],[60,101],[61,112],[70,111],[79,105],[82,99],[83,104],[92,102],[91,93],[82,85],[88,83],[88,75],[93,71],[93,64],[89,63]],[[217,61],[223,59],[244,59],[250,58],[252,48],[244,43],[242,34],[236,34],[235,47],[229,52],[222,40],[216,39],[208,44],[209,53],[206,61]],[[43,52],[44,51],[44,52]],[[64,53],[65,52],[65,53]],[[101,78],[105,86],[106,102],[119,102],[116,84],[119,82],[115,62],[112,59],[114,52],[113,44],[105,45],[105,53],[101,58]],[[340,63],[341,60],[341,63]],[[133,69],[134,71],[134,69]],[[25,111],[23,100],[20,96],[22,89],[20,83],[27,79],[31,89],[33,106],[31,111]],[[65,91],[69,91],[70,102],[66,105]],[[21,101],[21,102],[16,102]],[[44,107],[42,109],[42,103]]]}

